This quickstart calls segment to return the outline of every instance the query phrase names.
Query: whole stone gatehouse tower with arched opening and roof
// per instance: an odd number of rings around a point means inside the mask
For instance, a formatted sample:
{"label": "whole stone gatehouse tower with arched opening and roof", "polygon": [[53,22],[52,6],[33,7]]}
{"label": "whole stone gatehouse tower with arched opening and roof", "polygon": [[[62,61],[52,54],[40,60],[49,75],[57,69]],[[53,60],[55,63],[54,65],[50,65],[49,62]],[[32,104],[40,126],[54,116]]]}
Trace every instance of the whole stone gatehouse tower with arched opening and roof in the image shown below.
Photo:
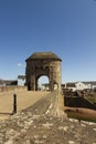
{"label": "whole stone gatehouse tower with arched opening and roof", "polygon": [[62,60],[53,52],[36,52],[25,60],[28,90],[38,90],[38,80],[42,75],[49,78],[50,90],[56,86],[61,90],[61,62]]}

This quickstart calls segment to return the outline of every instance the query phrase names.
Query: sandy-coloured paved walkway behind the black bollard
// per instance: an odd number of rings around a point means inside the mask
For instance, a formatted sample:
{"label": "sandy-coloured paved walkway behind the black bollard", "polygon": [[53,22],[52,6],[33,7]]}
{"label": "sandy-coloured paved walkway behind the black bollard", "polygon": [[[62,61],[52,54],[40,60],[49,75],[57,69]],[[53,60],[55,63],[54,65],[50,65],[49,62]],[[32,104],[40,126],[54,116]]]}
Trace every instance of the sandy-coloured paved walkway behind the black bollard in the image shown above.
{"label": "sandy-coloured paved walkway behind the black bollard", "polygon": [[[33,105],[49,92],[24,91],[17,93],[18,112]],[[13,110],[13,92],[0,94],[0,120],[8,117]]]}

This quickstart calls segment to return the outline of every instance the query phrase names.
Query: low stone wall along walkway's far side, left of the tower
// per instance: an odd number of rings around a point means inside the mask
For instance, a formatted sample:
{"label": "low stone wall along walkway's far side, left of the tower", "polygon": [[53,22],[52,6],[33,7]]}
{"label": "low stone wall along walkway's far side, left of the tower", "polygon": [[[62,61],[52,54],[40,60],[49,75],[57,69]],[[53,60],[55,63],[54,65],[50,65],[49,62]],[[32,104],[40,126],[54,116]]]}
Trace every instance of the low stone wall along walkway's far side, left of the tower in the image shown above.
{"label": "low stone wall along walkway's far side, left of the tower", "polygon": [[19,92],[19,91],[26,91],[26,86],[0,86],[0,93],[3,92]]}

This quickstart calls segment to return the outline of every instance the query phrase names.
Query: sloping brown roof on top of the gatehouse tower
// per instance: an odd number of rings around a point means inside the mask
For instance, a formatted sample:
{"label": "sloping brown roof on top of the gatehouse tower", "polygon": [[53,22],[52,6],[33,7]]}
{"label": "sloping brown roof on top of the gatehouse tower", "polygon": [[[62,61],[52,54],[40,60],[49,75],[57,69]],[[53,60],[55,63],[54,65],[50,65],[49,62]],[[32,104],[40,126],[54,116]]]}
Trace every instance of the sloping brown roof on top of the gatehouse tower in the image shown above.
{"label": "sloping brown roof on top of the gatehouse tower", "polygon": [[35,52],[33,53],[31,56],[29,56],[25,61],[30,61],[30,60],[39,60],[39,59],[50,59],[50,60],[58,60],[62,61],[56,54],[54,54],[53,52]]}

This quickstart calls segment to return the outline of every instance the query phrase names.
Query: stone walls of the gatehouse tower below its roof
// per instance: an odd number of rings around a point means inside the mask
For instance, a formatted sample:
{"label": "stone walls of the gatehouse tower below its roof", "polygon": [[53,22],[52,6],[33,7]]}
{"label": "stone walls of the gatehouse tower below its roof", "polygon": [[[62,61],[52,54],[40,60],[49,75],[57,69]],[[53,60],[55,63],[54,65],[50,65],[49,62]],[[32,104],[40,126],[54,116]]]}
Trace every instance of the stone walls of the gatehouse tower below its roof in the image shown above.
{"label": "stone walls of the gatehouse tower below its roof", "polygon": [[54,91],[54,84],[61,90],[61,61],[56,60],[30,60],[26,62],[28,90],[38,90],[38,80],[46,75],[50,81],[50,90]]}

